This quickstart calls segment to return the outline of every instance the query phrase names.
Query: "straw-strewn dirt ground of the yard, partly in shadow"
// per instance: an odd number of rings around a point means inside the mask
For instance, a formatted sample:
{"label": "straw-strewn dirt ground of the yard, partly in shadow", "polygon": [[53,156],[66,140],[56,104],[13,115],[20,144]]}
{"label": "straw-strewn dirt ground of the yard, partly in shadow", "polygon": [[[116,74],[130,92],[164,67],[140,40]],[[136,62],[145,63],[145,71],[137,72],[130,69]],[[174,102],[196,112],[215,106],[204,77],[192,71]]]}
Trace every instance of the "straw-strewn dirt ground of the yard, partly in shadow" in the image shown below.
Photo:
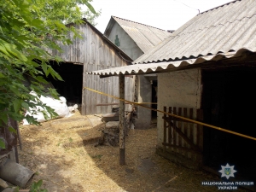
{"label": "straw-strewn dirt ground of the yard, partly in shadow", "polygon": [[219,191],[201,186],[202,181],[219,181],[219,177],[155,154],[155,126],[129,132],[126,165],[119,166],[119,147],[93,144],[103,127],[99,117],[81,116],[79,111],[41,126],[20,125],[20,164],[35,172],[33,181],[43,179],[43,189],[49,192]]}

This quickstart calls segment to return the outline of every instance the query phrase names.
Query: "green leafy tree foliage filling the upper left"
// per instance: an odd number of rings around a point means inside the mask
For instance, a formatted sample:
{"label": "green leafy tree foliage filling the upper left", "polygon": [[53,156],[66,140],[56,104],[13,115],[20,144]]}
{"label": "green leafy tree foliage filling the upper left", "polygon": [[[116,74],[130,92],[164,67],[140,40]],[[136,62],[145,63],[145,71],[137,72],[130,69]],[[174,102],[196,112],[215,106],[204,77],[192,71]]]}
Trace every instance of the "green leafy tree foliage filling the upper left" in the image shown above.
{"label": "green leafy tree foliage filling the upper left", "polygon": [[[49,60],[61,61],[60,58],[49,55],[46,50],[61,51],[55,44],[57,41],[72,43],[72,39],[66,38],[67,32],[79,33],[64,24],[82,22],[83,13],[79,5],[86,5],[92,14],[96,14],[90,1],[8,0],[0,3],[0,126],[8,124],[9,118],[23,119],[26,110],[36,108],[35,102],[44,108],[44,114],[55,116],[51,108],[29,92],[33,90],[38,96],[43,95],[45,89],[42,84],[47,84],[45,76],[62,80],[49,65]],[[24,85],[25,76],[30,78],[28,86]],[[55,90],[47,91],[57,96]],[[32,116],[26,116],[26,119],[37,124]],[[9,130],[13,131],[11,127]],[[4,148],[1,139],[0,148]]]}

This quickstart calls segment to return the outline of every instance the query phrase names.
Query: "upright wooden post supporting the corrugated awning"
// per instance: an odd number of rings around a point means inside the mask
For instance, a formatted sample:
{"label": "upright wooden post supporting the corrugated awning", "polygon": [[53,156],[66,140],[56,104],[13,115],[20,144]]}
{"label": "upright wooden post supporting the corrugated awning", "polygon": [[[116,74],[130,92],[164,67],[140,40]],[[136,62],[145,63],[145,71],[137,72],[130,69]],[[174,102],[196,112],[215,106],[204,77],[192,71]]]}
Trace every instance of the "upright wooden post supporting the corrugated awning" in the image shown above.
{"label": "upright wooden post supporting the corrugated awning", "polygon": [[[119,75],[119,98],[125,99],[125,75]],[[119,165],[125,165],[125,102],[119,100]]]}

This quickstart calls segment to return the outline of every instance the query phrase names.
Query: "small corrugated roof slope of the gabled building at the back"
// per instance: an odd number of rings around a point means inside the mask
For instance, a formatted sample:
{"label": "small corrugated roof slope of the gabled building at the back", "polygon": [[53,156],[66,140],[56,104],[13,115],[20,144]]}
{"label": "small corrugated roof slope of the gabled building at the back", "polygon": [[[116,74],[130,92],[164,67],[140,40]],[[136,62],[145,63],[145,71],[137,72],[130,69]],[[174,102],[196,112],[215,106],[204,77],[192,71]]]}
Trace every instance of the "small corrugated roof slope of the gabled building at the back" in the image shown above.
{"label": "small corrugated roof slope of the gabled building at the back", "polygon": [[127,32],[144,53],[148,52],[155,45],[160,44],[161,41],[172,34],[171,32],[131,20],[125,20],[115,16],[112,16],[112,18]]}

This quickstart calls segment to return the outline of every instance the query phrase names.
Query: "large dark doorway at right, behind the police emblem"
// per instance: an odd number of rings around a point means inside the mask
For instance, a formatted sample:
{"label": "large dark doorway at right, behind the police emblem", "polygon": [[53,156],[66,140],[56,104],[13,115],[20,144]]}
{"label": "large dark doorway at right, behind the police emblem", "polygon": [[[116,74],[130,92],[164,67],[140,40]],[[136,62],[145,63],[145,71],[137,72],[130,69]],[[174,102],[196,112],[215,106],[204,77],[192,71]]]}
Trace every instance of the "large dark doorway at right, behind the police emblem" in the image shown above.
{"label": "large dark doorway at right, behind the police emblem", "polygon": [[[256,67],[202,70],[204,121],[256,137]],[[204,165],[235,166],[236,177],[255,182],[256,141],[204,127]]]}

